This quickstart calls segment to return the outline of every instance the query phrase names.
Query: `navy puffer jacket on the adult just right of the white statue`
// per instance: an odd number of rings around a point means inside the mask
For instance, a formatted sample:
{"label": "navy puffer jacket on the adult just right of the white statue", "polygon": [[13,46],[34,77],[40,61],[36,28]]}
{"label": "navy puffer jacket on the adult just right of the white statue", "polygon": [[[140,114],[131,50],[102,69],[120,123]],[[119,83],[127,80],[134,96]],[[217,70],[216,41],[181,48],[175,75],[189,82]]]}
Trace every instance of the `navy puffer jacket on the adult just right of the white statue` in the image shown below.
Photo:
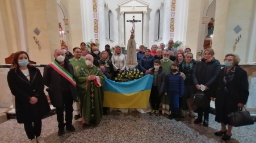
{"label": "navy puffer jacket on the adult just right of the white statue", "polygon": [[140,69],[143,73],[146,72],[146,70],[149,70],[150,68],[154,67],[154,56],[150,54],[149,57],[143,56],[140,60]]}

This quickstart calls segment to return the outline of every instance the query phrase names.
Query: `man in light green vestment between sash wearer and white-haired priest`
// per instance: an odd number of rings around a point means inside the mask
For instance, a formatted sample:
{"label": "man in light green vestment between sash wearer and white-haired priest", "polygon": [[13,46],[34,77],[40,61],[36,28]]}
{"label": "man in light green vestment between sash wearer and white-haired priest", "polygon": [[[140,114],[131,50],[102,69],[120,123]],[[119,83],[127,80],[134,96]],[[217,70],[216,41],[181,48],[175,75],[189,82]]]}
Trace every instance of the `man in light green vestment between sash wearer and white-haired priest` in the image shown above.
{"label": "man in light green vestment between sash wearer and white-haired priest", "polygon": [[[69,59],[70,64],[73,66],[74,74],[77,74],[80,72],[80,68],[82,68],[85,65],[85,58],[81,57],[81,49],[78,47],[73,48],[73,54],[74,57]],[[77,87],[78,89],[79,87]],[[78,93],[79,94],[79,93]],[[74,108],[74,119],[77,120],[81,117],[80,115],[80,103],[74,102],[73,103]]]}

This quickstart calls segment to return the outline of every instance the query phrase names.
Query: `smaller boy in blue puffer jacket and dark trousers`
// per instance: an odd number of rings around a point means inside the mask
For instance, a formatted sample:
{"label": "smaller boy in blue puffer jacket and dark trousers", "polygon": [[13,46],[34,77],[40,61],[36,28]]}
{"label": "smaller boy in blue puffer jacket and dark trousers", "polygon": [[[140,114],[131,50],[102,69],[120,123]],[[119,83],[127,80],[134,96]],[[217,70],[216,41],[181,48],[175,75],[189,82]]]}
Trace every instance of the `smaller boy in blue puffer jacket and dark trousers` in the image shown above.
{"label": "smaller boy in blue puffer jacket and dark trousers", "polygon": [[174,62],[171,64],[171,73],[166,75],[165,95],[168,95],[171,115],[169,119],[179,121],[179,96],[184,95],[184,79],[178,72],[179,64]]}

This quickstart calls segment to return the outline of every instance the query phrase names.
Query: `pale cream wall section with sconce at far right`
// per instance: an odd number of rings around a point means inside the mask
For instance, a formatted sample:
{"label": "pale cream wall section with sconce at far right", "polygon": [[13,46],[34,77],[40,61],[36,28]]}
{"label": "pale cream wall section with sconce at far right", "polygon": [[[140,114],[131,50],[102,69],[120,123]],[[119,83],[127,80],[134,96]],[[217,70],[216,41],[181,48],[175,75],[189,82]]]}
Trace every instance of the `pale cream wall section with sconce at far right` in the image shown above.
{"label": "pale cream wall section with sconce at far right", "polygon": [[[253,7],[254,0],[229,1],[228,20],[226,23],[224,56],[227,53],[239,54],[241,63],[245,63],[247,50],[249,49],[248,41],[250,40],[251,24],[253,24]],[[234,32],[234,28],[239,25],[242,30],[239,33]],[[242,35],[239,43],[236,44],[236,50],[233,52],[233,45],[239,35]],[[255,40],[255,39],[254,39]]]}

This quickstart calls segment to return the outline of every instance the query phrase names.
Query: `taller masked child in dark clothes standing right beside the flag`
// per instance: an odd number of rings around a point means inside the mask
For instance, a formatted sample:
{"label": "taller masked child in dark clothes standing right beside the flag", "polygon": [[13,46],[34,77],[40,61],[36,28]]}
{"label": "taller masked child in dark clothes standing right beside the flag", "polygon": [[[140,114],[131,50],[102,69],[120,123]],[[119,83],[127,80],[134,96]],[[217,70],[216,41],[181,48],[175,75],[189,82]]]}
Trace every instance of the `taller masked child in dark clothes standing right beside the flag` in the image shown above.
{"label": "taller masked child in dark clothes standing right beside the flag", "polygon": [[161,67],[161,61],[159,59],[154,60],[154,68],[151,70],[151,75],[154,75],[153,85],[150,92],[150,101],[152,106],[152,111],[149,115],[159,116],[160,108],[160,95],[165,89],[165,72],[163,72]]}

